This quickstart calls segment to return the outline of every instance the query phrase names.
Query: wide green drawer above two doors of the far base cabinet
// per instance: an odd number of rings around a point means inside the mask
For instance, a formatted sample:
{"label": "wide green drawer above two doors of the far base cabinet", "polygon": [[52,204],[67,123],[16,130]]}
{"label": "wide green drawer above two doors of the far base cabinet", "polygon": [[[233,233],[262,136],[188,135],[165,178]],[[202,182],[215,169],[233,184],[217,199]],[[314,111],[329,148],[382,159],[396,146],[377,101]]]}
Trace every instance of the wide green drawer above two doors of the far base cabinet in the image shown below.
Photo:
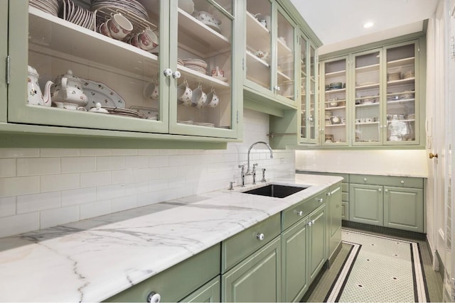
{"label": "wide green drawer above two doors of the far base cabinet", "polygon": [[350,175],[350,183],[423,188],[424,180],[415,177]]}

